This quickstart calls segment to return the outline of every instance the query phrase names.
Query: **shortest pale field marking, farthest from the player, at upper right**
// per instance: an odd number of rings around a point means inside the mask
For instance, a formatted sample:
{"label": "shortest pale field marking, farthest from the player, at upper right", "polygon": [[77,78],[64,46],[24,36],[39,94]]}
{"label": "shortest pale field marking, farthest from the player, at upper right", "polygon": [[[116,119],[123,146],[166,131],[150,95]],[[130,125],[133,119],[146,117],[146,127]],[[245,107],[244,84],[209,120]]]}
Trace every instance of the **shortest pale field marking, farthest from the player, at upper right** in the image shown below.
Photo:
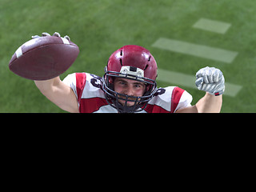
{"label": "shortest pale field marking, farthest from the player, at upper right", "polygon": [[200,30],[208,30],[218,34],[225,34],[230,26],[231,24],[227,22],[219,22],[207,18],[200,18],[198,22],[194,23],[193,27]]}

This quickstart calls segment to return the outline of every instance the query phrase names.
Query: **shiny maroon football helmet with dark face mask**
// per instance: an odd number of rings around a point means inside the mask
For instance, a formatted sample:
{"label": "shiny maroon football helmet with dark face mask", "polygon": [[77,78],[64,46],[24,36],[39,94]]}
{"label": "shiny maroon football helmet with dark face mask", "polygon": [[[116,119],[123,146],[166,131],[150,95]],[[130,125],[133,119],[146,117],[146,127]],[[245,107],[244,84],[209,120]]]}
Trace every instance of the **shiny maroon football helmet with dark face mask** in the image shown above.
{"label": "shiny maroon football helmet with dark face mask", "polygon": [[[133,113],[144,110],[147,103],[156,92],[156,78],[158,66],[149,50],[142,46],[122,46],[111,54],[105,74],[102,78],[103,90],[106,100],[122,113]],[[118,94],[114,91],[114,78],[128,78],[146,84],[146,91],[142,97],[134,97],[126,94]],[[122,99],[124,105],[118,102]],[[134,102],[134,106],[127,106],[127,102]]]}

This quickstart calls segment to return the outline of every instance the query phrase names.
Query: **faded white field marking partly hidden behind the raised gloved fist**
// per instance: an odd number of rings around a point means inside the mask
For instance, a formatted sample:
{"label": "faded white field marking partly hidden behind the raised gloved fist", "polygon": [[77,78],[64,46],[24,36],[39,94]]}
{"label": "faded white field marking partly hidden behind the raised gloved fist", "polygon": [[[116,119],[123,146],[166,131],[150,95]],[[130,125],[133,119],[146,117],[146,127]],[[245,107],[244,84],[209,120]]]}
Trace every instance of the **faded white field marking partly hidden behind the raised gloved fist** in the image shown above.
{"label": "faded white field marking partly hidden behind the raised gloved fist", "polygon": [[[189,74],[182,74],[170,70],[158,69],[158,81],[171,83],[173,86],[187,86],[193,89],[198,89],[195,86],[195,76]],[[224,95],[235,97],[242,89],[242,86],[234,85],[229,82],[225,82]]]}

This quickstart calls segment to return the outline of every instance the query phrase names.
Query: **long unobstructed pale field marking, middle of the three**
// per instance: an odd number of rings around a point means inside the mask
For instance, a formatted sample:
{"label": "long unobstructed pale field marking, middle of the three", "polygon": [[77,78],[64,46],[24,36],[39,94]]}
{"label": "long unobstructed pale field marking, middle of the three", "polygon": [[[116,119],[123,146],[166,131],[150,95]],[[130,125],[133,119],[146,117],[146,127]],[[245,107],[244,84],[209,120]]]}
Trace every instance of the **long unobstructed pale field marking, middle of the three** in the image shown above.
{"label": "long unobstructed pale field marking, middle of the three", "polygon": [[200,58],[208,58],[219,62],[231,63],[238,55],[238,52],[223,50],[210,46],[202,46],[190,42],[182,42],[169,38],[158,38],[153,43],[154,47],[162,50],[170,50],[182,54],[190,54]]}

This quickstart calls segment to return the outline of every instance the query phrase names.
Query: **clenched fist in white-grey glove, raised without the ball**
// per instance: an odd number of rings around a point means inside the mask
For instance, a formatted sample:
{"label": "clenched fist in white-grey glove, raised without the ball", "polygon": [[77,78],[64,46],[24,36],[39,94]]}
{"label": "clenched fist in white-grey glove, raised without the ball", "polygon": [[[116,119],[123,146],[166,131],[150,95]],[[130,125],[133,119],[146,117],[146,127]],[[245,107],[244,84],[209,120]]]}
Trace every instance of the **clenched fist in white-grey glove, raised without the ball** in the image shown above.
{"label": "clenched fist in white-grey glove, raised without the ball", "polygon": [[195,85],[198,90],[204,90],[210,94],[218,96],[224,93],[225,90],[225,78],[221,70],[215,67],[206,66],[195,75],[197,80]]}

